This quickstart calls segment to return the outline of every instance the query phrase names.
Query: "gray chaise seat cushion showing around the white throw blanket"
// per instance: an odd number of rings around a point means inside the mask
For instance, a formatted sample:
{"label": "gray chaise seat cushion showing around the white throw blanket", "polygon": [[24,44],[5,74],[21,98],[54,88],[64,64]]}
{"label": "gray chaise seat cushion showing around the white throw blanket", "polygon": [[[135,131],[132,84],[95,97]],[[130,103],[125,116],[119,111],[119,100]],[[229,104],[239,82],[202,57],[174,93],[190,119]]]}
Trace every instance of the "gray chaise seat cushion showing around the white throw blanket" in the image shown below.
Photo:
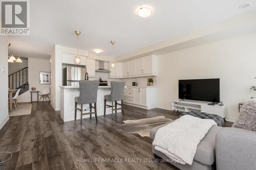
{"label": "gray chaise seat cushion showing around the white throw blanket", "polygon": [[[169,123],[167,123],[169,124]],[[155,138],[156,132],[159,128],[167,125],[161,125],[158,127],[155,127],[151,129],[150,131],[150,137],[152,139]],[[194,157],[194,160],[197,160],[200,163],[206,164],[206,165],[212,165],[215,161],[215,146],[216,146],[216,135],[217,133],[222,130],[222,127],[219,126],[213,126],[210,128],[208,133],[205,135],[205,137],[201,140],[201,142],[197,146],[197,152]]]}

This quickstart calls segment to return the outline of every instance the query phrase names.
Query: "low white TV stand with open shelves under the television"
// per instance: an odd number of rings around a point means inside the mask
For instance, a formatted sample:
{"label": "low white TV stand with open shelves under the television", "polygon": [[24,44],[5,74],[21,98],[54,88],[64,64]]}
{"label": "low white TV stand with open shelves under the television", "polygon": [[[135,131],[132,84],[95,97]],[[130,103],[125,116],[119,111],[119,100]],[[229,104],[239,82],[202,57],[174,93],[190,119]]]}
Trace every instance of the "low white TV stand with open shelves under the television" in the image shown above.
{"label": "low white TV stand with open shelves under the television", "polygon": [[222,118],[226,117],[225,107],[219,105],[208,105],[206,102],[195,102],[195,101],[173,101],[172,109],[182,112],[197,111],[205,112],[210,114],[217,114]]}

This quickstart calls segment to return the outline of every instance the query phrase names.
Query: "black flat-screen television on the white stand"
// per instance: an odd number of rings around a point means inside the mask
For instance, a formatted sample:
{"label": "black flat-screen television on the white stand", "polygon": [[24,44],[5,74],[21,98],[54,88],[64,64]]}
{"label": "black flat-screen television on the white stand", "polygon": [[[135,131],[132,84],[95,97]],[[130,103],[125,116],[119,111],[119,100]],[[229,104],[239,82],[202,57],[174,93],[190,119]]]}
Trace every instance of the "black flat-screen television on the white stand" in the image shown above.
{"label": "black flat-screen television on the white stand", "polygon": [[179,80],[179,99],[220,102],[220,79]]}

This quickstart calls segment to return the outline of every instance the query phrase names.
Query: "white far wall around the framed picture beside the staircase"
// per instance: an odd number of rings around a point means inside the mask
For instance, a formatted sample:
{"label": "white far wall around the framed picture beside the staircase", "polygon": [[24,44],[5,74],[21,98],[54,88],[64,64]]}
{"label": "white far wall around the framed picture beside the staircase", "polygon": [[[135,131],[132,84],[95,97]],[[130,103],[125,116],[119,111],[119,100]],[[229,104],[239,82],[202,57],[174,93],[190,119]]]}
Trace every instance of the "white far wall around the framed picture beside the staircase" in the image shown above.
{"label": "white far wall around the framed picture beside the staircase", "polygon": [[[35,87],[36,90],[42,91],[45,87],[50,87],[50,84],[40,84],[39,83],[39,72],[40,71],[48,71],[50,72],[50,60],[44,59],[36,59],[29,58],[28,59],[28,67],[29,67],[29,88]],[[33,101],[36,101],[36,93],[33,93]],[[42,101],[42,99],[41,99]],[[19,95],[17,98],[17,102],[30,102],[30,91],[26,91],[25,93]]]}

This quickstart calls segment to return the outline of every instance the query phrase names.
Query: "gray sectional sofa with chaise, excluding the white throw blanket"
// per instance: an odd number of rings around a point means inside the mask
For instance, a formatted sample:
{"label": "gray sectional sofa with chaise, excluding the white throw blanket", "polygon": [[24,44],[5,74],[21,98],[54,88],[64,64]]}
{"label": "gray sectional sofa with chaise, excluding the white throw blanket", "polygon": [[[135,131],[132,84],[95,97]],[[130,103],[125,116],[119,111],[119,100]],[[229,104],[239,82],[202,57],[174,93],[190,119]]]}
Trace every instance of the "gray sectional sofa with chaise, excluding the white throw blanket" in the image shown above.
{"label": "gray sectional sofa with chaise, excluding the white throw blanket", "polygon": [[[154,140],[161,125],[153,128],[150,137]],[[155,157],[169,159],[163,153],[155,150]],[[256,132],[213,126],[198,144],[192,165],[170,162],[180,169],[189,170],[235,170],[256,169]]]}

